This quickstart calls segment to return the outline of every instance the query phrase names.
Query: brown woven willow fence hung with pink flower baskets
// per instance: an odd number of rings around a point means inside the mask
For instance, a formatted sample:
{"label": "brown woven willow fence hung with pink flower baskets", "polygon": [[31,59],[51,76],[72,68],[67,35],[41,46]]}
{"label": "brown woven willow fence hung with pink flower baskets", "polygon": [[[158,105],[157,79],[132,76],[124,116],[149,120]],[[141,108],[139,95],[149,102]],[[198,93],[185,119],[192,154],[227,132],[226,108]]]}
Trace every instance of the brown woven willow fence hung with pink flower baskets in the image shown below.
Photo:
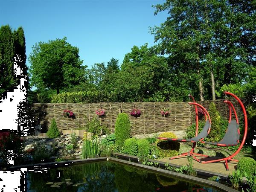
{"label": "brown woven willow fence hung with pink flower baskets", "polygon": [[[239,118],[242,117],[241,107],[235,99],[229,99],[235,106]],[[224,104],[224,99],[215,101],[198,102],[206,109],[209,104],[215,102],[217,110],[221,116],[228,117],[228,107]],[[102,108],[106,111],[105,118],[99,118],[95,111]],[[130,112],[133,108],[141,110],[140,117],[133,117]],[[163,117],[161,109],[171,111],[170,116]],[[70,119],[62,115],[67,109],[76,114],[76,119]],[[114,132],[115,122],[119,112],[127,113],[131,122],[131,134],[151,134],[162,131],[185,130],[195,122],[194,105],[188,102],[134,102],[134,103],[47,103],[33,104],[31,116],[34,122],[41,123],[45,128],[49,127],[50,122],[55,118],[59,130],[74,129],[84,127],[93,117],[99,118],[102,125]]]}

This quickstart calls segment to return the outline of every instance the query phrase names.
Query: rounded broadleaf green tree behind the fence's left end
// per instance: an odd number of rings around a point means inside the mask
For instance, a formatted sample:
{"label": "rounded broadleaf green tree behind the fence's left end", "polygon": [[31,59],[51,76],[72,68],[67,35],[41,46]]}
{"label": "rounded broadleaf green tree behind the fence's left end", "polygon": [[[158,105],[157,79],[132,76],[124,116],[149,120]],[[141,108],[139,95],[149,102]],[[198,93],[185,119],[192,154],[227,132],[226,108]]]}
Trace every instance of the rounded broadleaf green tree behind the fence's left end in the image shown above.
{"label": "rounded broadleaf green tree behind the fence's left end", "polygon": [[66,40],[39,42],[32,47],[31,81],[39,90],[52,89],[58,94],[85,81],[86,66],[81,65],[79,49]]}

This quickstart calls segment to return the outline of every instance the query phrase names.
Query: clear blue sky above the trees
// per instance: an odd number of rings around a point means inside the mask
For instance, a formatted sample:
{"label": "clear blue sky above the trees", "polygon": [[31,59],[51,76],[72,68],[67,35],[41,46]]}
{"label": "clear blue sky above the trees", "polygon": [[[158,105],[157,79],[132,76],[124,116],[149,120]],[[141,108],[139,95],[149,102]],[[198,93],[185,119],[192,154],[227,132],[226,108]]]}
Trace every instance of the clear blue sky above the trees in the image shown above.
{"label": "clear blue sky above the trees", "polygon": [[[167,12],[154,15],[152,5],[164,0],[0,0],[0,26],[22,26],[27,58],[35,43],[67,37],[79,48],[83,65],[111,58],[122,64],[136,45],[154,45],[149,26],[160,26]],[[27,59],[26,64],[29,66]]]}

